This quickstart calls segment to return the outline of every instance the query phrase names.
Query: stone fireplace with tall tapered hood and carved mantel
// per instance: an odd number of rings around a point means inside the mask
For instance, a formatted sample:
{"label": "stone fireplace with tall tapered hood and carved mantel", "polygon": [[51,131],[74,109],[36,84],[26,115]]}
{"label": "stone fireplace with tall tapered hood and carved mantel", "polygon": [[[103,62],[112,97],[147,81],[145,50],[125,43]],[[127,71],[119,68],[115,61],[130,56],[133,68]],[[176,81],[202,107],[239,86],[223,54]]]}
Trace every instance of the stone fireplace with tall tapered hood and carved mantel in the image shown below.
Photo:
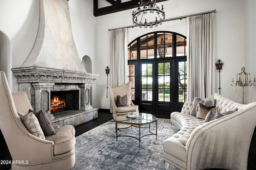
{"label": "stone fireplace with tall tapered hood and carved mantel", "polygon": [[[90,105],[90,90],[98,75],[87,73],[78,56],[68,1],[39,3],[34,47],[21,67],[12,68],[18,91],[25,91],[33,109],[46,111],[54,125],[76,126],[95,119],[98,109]],[[62,101],[53,101],[54,95]]]}

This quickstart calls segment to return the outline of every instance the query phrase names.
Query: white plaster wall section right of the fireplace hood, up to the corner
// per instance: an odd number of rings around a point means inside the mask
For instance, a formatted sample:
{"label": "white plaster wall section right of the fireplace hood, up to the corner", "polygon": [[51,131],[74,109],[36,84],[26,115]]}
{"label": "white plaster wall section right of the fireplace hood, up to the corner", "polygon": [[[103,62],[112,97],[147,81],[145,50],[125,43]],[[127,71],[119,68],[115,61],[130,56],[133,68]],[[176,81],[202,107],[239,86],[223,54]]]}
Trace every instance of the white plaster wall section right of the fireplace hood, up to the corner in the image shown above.
{"label": "white plaster wall section right of the fireplace hood, up to the corner", "polygon": [[[88,73],[95,73],[94,69],[97,67],[97,64],[95,63],[95,50],[96,50],[96,44],[95,44],[95,27],[96,27],[96,18],[93,15],[93,1],[90,0],[70,0],[68,1],[69,5],[69,11],[70,11],[70,21],[71,21],[71,27],[74,37],[74,42],[76,44],[76,49],[78,51],[78,55],[82,61],[82,58],[84,56],[89,57],[90,60],[84,60],[84,61],[90,61],[88,66],[88,63],[83,63],[85,66],[85,69]],[[83,62],[84,62],[83,61]],[[99,78],[98,78],[99,79]],[[96,82],[98,81],[96,80]],[[95,91],[98,88],[96,87],[96,83],[92,85],[92,88],[90,89],[91,92],[91,101],[90,104],[92,107],[94,106],[94,99],[96,98],[95,95],[92,95],[95,93]]]}

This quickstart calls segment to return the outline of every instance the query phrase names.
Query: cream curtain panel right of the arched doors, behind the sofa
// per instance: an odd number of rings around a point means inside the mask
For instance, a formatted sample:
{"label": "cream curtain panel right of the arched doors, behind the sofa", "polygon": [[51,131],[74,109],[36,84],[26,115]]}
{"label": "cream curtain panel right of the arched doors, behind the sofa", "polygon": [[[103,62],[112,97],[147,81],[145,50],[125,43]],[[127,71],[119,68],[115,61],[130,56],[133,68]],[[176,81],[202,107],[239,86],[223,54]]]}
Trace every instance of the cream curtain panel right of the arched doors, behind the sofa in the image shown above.
{"label": "cream curtain panel right of the arched doors, behind the sofa", "polygon": [[187,101],[215,93],[214,12],[187,17]]}

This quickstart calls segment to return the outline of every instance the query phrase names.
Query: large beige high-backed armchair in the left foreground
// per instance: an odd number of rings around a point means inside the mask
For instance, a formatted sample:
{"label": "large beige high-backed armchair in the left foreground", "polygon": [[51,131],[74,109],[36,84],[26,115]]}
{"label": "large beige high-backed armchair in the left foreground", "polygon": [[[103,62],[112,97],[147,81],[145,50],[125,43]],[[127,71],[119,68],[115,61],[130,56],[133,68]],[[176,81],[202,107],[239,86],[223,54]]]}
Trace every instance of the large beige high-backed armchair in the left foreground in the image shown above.
{"label": "large beige high-backed armchair in the left foreground", "polygon": [[11,93],[6,75],[0,71],[0,129],[14,162],[12,170],[70,170],[75,164],[75,129],[54,126],[56,134],[45,139],[28,131],[17,111],[32,109],[25,92]]}

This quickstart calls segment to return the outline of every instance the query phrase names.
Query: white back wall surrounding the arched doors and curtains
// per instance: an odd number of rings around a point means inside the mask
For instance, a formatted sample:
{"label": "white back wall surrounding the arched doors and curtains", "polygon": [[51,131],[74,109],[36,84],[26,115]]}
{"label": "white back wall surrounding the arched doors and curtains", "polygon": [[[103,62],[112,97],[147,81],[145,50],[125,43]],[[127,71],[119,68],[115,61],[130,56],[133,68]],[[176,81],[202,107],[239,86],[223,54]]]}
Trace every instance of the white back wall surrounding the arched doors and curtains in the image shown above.
{"label": "white back wall surrounding the arched doors and curtains", "polygon": [[[241,0],[169,0],[157,4],[164,5],[166,19],[217,10],[215,13],[215,60],[217,62],[221,59],[224,63],[220,75],[221,95],[241,103],[242,94],[230,91],[230,81],[245,63],[245,2]],[[94,93],[96,96],[94,99],[97,101],[98,108],[110,108],[110,99],[106,98],[107,76],[105,73],[106,66],[110,66],[108,29],[133,25],[131,14],[132,9],[96,17],[95,63],[97,68],[94,73],[100,76],[96,82],[98,90]],[[152,29],[128,28],[128,42],[140,35],[159,30],[178,32],[186,36],[186,19],[164,22],[162,26]],[[218,80],[217,70],[216,80]],[[218,92],[218,81],[216,81],[216,92]]]}

